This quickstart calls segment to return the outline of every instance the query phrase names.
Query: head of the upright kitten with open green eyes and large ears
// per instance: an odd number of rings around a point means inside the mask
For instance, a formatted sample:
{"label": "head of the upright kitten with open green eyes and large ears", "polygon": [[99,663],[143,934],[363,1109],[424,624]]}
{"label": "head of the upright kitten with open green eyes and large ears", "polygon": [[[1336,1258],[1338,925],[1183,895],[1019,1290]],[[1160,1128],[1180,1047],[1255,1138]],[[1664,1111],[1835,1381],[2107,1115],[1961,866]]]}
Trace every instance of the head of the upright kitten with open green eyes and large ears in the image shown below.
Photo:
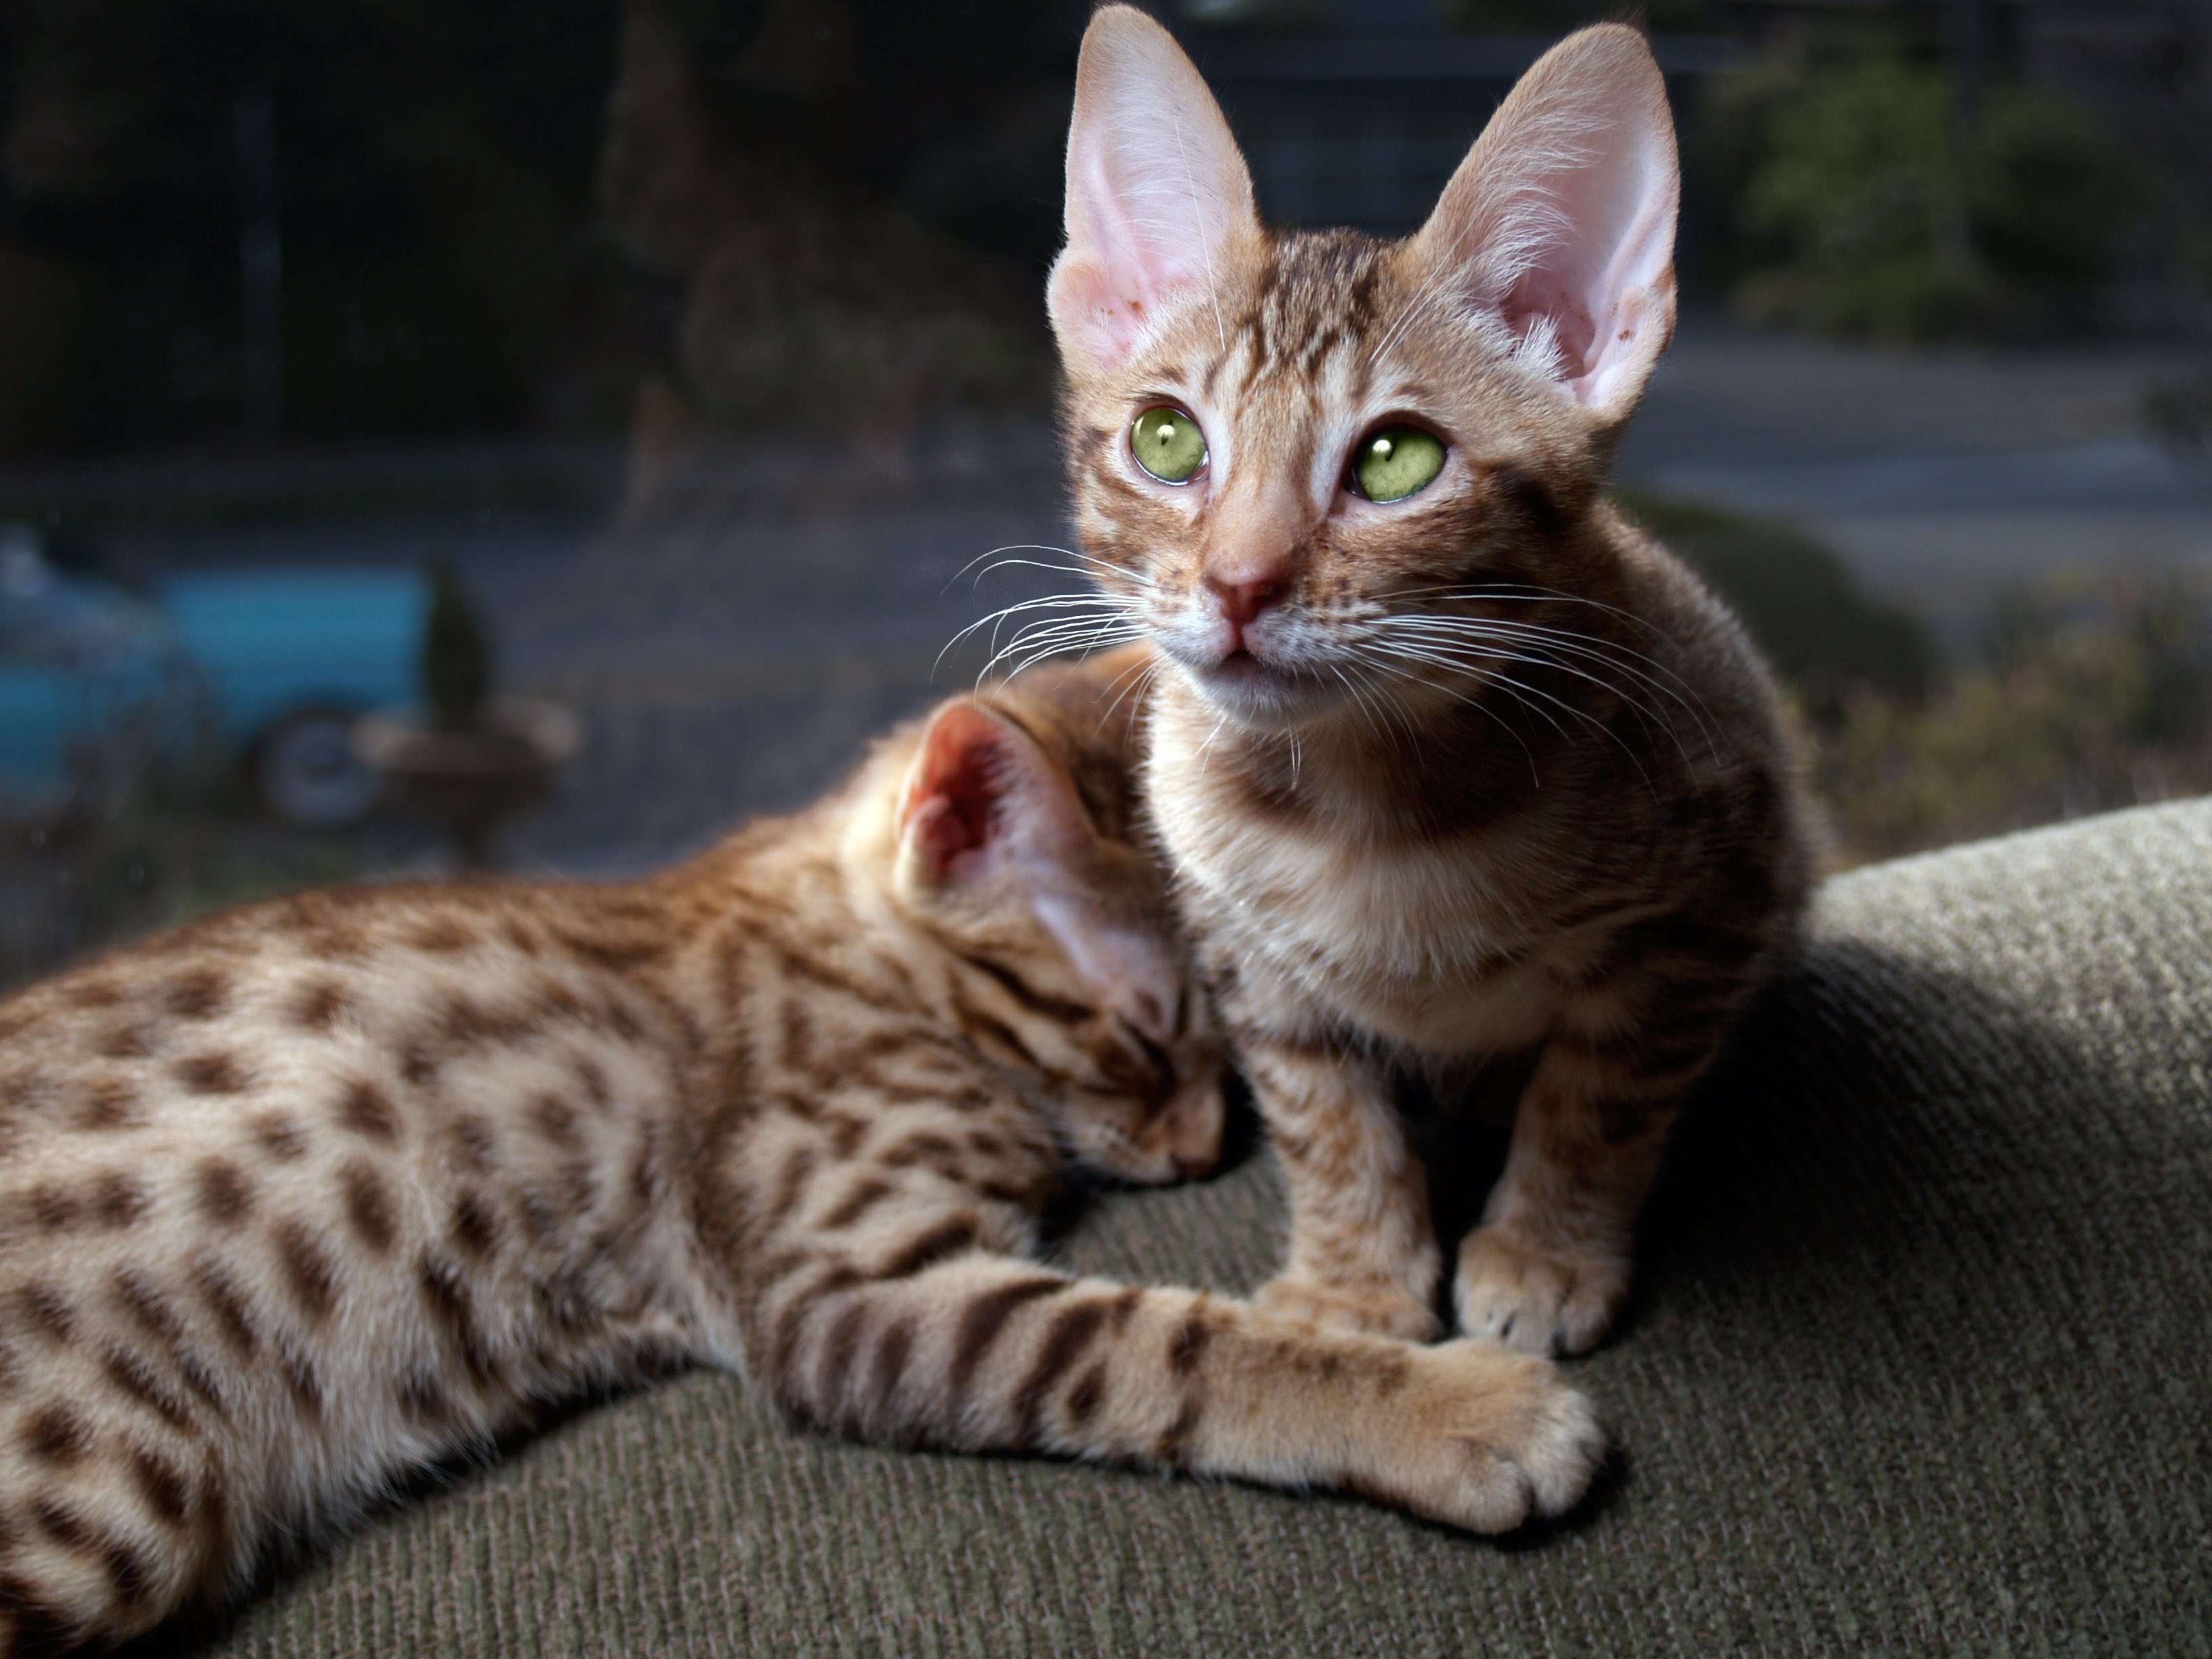
{"label": "head of the upright kitten with open green eyes and large ears", "polygon": [[1601,27],[1528,71],[1418,234],[1272,234],[1190,60],[1099,11],[1048,299],[1106,591],[1252,726],[1480,668],[1442,619],[1526,624],[1531,588],[1586,580],[1562,529],[1672,330],[1674,201],[1666,86]]}

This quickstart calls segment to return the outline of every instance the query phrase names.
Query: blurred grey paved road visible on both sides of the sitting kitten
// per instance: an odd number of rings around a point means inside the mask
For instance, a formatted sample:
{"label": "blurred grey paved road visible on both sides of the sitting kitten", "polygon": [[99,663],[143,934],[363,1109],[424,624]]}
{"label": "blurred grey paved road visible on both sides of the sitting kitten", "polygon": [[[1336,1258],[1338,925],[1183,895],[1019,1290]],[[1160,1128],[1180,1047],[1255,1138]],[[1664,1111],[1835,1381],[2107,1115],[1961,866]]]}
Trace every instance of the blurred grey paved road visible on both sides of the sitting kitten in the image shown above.
{"label": "blurred grey paved road visible on both sides of the sitting kitten", "polygon": [[[1938,615],[2057,564],[2212,575],[2212,493],[2137,431],[2141,387],[2168,369],[2148,352],[1867,354],[1692,319],[1630,431],[1624,476],[1798,518],[1869,586]],[[1066,542],[1042,422],[953,431],[914,456],[748,445],[703,462],[688,504],[648,524],[445,515],[204,531],[139,553],[453,557],[493,619],[509,684],[560,695],[588,721],[562,801],[515,854],[611,872],[807,801],[869,734],[973,677],[975,653],[933,672],[962,624],[1079,586],[1024,568],[980,586],[960,577],[1024,542]]]}

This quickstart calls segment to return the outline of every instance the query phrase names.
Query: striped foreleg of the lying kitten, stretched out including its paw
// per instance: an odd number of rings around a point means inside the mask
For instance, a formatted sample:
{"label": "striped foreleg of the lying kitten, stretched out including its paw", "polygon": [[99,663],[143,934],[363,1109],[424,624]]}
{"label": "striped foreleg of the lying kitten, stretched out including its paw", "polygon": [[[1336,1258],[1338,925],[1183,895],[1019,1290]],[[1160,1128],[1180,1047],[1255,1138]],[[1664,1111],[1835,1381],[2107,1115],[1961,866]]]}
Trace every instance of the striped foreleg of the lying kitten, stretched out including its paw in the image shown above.
{"label": "striped foreleg of the lying kitten, stretched out including its paw", "polygon": [[1548,1363],[1486,1343],[1307,1329],[971,1248],[874,1272],[825,1254],[787,1281],[754,1374],[867,1440],[1340,1486],[1482,1533],[1564,1511],[1604,1455]]}

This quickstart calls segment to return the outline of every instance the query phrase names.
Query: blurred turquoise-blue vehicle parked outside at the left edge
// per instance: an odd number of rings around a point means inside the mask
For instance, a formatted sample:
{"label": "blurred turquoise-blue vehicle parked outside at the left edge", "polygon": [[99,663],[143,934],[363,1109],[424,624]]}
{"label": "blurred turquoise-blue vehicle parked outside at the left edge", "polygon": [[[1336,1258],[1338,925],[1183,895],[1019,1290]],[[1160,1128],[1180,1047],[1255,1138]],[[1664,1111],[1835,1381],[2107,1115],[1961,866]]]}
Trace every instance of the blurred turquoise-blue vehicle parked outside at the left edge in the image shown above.
{"label": "blurred turquoise-blue vehicle parked outside at the left edge", "polygon": [[195,734],[234,754],[288,823],[338,827],[380,781],[354,717],[420,701],[429,582],[411,571],[228,571],[153,602],[58,571],[0,529],[0,814],[42,823],[119,799]]}

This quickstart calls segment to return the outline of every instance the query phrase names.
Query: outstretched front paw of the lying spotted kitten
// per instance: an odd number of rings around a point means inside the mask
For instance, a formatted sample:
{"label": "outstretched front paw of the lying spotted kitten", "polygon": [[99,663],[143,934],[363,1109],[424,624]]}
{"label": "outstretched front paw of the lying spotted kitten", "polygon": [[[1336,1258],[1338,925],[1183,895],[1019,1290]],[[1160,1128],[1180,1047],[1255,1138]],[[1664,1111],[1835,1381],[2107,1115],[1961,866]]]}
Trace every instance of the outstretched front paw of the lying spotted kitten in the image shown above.
{"label": "outstretched front paw of the lying spotted kitten", "polygon": [[1444,1343],[1418,1356],[1416,1387],[1391,1416],[1391,1464],[1374,1495],[1473,1533],[1506,1533],[1562,1515],[1606,1458],[1590,1402],[1548,1360],[1489,1343]]}

